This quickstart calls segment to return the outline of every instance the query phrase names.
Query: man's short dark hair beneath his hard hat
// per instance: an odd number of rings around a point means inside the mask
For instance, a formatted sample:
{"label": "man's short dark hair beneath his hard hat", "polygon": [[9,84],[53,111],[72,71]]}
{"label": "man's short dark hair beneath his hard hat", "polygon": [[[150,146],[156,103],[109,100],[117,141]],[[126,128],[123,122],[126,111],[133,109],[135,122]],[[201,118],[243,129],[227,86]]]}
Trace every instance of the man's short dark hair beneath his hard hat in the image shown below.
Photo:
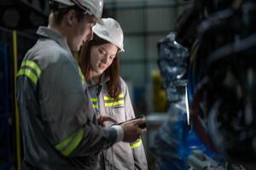
{"label": "man's short dark hair beneath his hard hat", "polygon": [[82,20],[84,17],[84,10],[79,8],[77,5],[69,6],[66,8],[59,8],[60,3],[57,3],[55,1],[49,1],[49,8],[51,10],[51,13],[54,15],[54,21],[56,25],[61,24],[61,20],[63,19],[63,16],[68,13],[69,10],[73,9],[76,14],[76,18],[78,21]]}

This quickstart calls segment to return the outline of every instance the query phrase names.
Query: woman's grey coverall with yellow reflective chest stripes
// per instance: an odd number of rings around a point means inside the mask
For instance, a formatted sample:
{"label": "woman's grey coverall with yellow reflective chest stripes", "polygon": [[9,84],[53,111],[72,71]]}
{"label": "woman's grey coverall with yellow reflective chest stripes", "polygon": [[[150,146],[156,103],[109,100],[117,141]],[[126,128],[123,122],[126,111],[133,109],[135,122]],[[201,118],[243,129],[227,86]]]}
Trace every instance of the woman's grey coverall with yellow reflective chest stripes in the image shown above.
{"label": "woman's grey coverall with yellow reflective chest stripes", "polygon": [[[111,116],[117,122],[125,122],[135,117],[128,88],[125,81],[120,78],[121,94],[114,100],[108,95],[107,82],[109,77],[102,75],[102,80],[98,85],[92,81],[88,82],[88,89],[93,107],[97,114]],[[105,122],[106,127],[110,127],[112,122]],[[105,170],[135,170],[148,169],[148,164],[143,148],[142,139],[129,144],[119,142],[113,144],[108,150],[103,150],[100,156],[101,167]]]}

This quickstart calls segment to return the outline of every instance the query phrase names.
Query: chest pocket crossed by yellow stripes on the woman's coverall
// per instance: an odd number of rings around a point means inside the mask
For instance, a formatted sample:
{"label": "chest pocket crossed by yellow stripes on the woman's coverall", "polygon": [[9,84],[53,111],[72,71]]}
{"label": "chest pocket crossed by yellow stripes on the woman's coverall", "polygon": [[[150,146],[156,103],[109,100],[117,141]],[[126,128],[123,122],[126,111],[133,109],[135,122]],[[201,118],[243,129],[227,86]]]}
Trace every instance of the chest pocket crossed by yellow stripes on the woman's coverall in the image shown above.
{"label": "chest pocket crossed by yellow stripes on the woman's coverall", "polygon": [[119,94],[117,99],[104,96],[104,107],[107,114],[112,116],[117,122],[124,122],[126,120],[124,94]]}

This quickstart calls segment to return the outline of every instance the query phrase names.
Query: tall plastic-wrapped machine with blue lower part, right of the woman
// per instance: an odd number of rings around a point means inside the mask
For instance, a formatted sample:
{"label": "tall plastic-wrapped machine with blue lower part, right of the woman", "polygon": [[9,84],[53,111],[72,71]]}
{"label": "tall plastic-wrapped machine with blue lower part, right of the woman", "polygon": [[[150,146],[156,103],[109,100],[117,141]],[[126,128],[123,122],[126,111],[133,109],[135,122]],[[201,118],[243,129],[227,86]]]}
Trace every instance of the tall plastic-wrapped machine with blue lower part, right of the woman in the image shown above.
{"label": "tall plastic-wrapped machine with blue lower part, right of the woman", "polygon": [[149,147],[161,170],[189,169],[187,158],[191,150],[202,150],[212,155],[187,123],[185,90],[189,52],[175,41],[173,32],[160,40],[158,48],[158,65],[170,105],[168,118],[155,133],[154,141]]}

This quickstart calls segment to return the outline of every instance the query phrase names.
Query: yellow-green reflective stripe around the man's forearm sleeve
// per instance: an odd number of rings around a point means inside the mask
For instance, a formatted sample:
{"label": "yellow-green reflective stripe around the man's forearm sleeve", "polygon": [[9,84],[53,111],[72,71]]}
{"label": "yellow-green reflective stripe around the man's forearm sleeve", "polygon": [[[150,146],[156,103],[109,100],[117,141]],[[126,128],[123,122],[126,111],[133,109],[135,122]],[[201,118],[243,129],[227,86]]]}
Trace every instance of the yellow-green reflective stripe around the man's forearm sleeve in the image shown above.
{"label": "yellow-green reflective stripe around the man's forearm sleeve", "polygon": [[[76,137],[74,138],[74,136]],[[63,156],[69,156],[74,149],[79,145],[84,136],[84,128],[81,128],[78,133],[69,136],[60,144],[55,145],[55,149],[61,151]]]}

